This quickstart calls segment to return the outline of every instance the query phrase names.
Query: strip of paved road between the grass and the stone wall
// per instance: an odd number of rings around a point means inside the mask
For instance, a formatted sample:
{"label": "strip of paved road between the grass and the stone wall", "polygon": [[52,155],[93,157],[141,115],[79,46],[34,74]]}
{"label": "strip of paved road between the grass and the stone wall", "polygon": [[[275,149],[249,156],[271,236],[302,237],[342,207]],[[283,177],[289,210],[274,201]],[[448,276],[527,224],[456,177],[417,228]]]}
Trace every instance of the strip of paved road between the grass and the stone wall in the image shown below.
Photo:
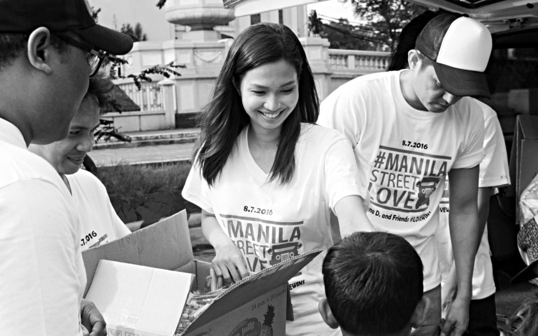
{"label": "strip of paved road between the grass and the stone wall", "polygon": [[118,163],[159,162],[190,159],[194,143],[155,145],[132,148],[96,149],[88,155],[97,167]]}

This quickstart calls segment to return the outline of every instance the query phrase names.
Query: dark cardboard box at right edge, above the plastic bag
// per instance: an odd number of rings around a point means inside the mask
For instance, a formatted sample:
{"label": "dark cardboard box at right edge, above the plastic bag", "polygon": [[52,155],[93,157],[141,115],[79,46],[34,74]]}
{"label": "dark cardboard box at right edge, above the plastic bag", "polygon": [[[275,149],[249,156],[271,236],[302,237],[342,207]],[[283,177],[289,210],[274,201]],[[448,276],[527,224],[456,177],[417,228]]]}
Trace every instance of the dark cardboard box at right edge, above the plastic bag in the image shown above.
{"label": "dark cardboard box at right edge, above the plastic bag", "polygon": [[[509,169],[518,216],[521,193],[538,173],[537,153],[538,116],[517,116]],[[516,223],[519,223],[519,218]]]}

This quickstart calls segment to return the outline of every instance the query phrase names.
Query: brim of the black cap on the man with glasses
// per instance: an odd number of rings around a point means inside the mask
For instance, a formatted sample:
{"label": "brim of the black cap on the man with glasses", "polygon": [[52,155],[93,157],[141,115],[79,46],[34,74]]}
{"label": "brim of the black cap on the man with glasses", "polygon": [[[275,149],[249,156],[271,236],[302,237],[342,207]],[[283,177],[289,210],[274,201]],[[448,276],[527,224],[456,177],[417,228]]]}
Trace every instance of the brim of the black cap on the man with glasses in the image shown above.
{"label": "brim of the black cap on the man with glasses", "polygon": [[133,40],[129,35],[97,24],[77,29],[75,33],[93,44],[96,49],[115,55],[125,55],[133,47]]}

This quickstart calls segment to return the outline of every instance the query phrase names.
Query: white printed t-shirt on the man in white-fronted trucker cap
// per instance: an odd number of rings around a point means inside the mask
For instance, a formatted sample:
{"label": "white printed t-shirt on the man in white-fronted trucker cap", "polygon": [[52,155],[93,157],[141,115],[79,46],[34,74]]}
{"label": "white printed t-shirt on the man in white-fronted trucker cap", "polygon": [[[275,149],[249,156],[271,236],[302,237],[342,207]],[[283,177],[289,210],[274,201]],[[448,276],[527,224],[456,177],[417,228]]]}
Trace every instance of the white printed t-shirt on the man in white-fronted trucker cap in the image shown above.
{"label": "white printed t-shirt on the man in white-fronted trucker cap", "polygon": [[427,291],[441,282],[434,233],[445,176],[482,161],[484,121],[469,97],[443,113],[412,108],[402,95],[400,73],[345,83],[321,103],[318,123],[351,141],[359,178],[370,192],[372,225],[404,237],[416,249]]}

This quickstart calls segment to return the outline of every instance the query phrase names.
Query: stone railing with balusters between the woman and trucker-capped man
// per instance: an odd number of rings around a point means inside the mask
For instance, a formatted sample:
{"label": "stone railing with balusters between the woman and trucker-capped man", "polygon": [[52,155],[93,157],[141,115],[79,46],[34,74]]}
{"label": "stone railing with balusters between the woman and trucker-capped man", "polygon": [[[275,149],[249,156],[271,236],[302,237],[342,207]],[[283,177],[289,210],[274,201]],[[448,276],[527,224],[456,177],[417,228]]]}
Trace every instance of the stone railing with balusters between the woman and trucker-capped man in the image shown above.
{"label": "stone railing with balusters between the woman and trucker-capped man", "polygon": [[357,75],[385,71],[390,62],[388,52],[329,49],[329,64],[334,72],[353,72]]}

